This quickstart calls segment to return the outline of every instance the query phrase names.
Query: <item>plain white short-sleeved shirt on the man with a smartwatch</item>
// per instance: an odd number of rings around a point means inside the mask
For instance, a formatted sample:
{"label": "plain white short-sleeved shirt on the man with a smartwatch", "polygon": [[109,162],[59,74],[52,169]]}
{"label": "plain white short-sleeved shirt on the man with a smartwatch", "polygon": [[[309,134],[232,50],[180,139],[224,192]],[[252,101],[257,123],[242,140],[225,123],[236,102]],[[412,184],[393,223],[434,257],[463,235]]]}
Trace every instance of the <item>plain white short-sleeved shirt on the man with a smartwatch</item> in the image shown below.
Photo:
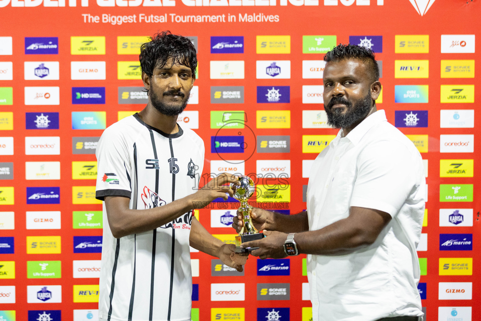
{"label": "plain white short-sleeved shirt on the man with a smartwatch", "polygon": [[347,218],[351,206],[389,213],[392,220],[365,248],[307,256],[314,321],[422,315],[416,247],[425,188],[421,155],[384,110],[345,137],[341,129],[316,157],[307,187],[310,231]]}

